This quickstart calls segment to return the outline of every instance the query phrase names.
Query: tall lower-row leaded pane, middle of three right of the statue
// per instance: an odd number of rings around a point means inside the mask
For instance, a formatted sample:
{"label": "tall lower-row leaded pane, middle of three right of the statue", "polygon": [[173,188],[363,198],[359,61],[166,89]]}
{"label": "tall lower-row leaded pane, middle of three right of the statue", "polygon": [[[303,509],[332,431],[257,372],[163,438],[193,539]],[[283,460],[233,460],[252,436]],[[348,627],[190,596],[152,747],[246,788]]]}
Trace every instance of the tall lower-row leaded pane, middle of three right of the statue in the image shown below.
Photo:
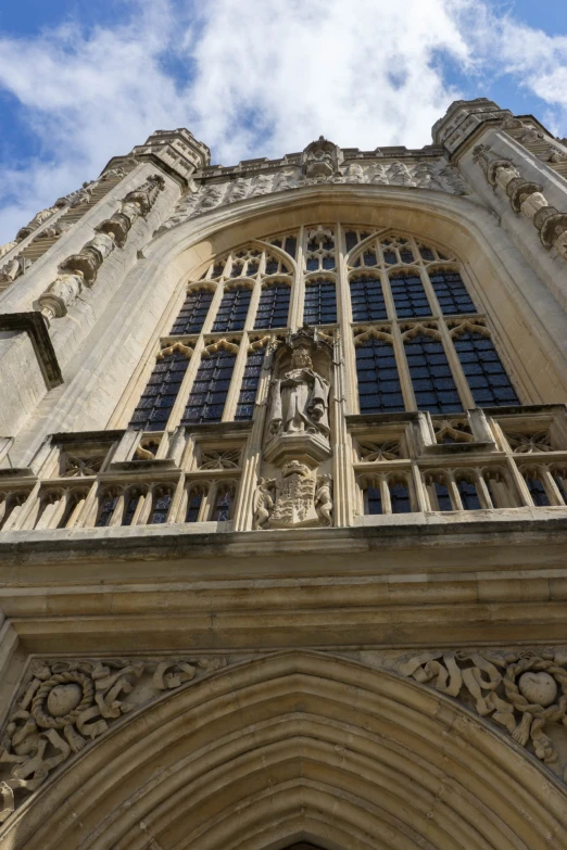
{"label": "tall lower-row leaded pane, middle of three right of the statue", "polygon": [[412,337],[405,341],[405,356],[420,410],[444,414],[463,409],[440,340],[425,333]]}

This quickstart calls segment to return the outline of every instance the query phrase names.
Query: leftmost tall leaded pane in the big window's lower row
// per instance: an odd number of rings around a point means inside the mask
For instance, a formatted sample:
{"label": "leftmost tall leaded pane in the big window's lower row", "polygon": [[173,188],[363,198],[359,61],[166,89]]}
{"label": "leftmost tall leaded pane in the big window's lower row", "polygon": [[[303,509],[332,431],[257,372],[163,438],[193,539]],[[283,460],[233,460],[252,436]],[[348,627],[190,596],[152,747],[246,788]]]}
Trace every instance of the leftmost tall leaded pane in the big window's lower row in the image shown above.
{"label": "leftmost tall leaded pane in the big window's lower row", "polygon": [[163,431],[189,360],[174,352],[159,360],[130,419],[130,428],[139,431]]}

